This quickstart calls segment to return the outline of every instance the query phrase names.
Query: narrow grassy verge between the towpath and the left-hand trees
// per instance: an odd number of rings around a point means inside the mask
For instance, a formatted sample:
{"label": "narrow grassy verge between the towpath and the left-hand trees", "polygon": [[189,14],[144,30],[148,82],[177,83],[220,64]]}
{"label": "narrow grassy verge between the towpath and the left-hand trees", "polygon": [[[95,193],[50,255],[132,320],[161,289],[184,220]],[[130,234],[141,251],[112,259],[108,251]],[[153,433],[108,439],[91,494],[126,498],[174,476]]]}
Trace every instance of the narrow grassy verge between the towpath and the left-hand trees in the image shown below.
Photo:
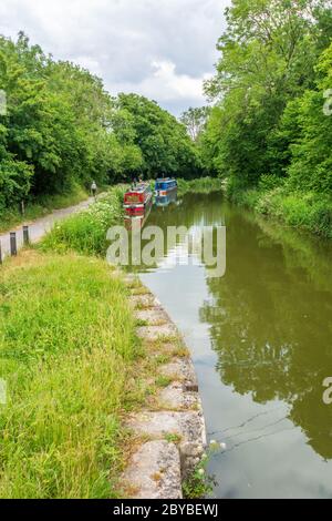
{"label": "narrow grassy verge between the towpath and the left-hand trees", "polygon": [[21,208],[9,208],[0,213],[0,233],[19,226],[23,222],[34,221],[43,217],[54,210],[68,208],[86,201],[89,193],[81,186],[73,186],[72,191],[63,195],[49,195],[38,197],[25,205],[25,214],[22,216]]}

